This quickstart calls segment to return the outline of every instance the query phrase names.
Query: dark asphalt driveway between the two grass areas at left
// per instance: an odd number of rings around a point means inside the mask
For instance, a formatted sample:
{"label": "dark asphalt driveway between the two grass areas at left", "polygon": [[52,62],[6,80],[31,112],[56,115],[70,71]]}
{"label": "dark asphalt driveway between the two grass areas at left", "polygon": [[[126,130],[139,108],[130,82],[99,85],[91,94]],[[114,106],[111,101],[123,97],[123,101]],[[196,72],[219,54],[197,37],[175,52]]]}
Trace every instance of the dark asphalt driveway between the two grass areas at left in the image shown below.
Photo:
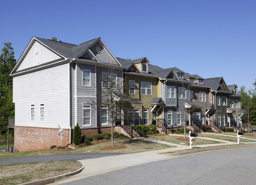
{"label": "dark asphalt driveway between the two grass areas at left", "polygon": [[56,161],[56,160],[84,160],[92,158],[101,158],[107,156],[121,155],[119,153],[88,153],[88,154],[56,154],[56,155],[42,155],[42,156],[28,156],[19,158],[5,158],[0,159],[0,164],[14,164],[14,163],[30,163],[38,161]]}

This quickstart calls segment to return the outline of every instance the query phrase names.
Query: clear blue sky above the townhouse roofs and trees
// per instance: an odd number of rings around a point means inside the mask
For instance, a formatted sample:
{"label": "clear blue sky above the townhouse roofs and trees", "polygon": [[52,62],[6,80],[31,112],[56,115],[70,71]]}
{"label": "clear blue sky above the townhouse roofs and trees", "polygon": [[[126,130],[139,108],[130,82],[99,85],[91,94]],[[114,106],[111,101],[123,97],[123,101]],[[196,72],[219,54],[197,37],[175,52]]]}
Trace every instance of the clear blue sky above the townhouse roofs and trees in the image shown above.
{"label": "clear blue sky above the townhouse roofs and trees", "polygon": [[256,1],[3,1],[0,48],[18,60],[32,36],[81,44],[101,37],[116,57],[147,57],[227,85],[254,88]]}

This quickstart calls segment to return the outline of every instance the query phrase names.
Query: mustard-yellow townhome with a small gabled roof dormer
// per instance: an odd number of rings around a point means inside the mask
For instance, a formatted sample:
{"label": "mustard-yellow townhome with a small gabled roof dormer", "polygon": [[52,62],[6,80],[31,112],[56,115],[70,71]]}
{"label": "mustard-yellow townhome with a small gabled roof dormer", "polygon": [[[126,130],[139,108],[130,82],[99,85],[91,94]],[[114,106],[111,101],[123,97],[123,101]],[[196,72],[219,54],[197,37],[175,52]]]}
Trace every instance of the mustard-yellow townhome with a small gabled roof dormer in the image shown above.
{"label": "mustard-yellow townhome with a small gabled roof dormer", "polygon": [[136,60],[117,59],[124,67],[124,91],[131,98],[124,105],[124,124],[156,124],[156,120],[162,117],[163,106],[158,76],[152,73],[152,66],[146,57]]}

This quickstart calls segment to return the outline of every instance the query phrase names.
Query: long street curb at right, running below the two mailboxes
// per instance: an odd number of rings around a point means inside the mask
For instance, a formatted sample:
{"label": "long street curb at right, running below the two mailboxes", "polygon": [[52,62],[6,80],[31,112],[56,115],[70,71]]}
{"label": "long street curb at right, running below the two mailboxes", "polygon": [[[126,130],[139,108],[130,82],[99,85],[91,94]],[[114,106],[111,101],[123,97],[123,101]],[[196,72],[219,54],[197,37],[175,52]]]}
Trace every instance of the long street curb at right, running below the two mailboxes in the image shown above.
{"label": "long street curb at right, running below the two mailboxes", "polygon": [[236,145],[236,146],[226,146],[226,147],[212,147],[212,148],[208,148],[208,149],[198,149],[198,150],[194,150],[194,151],[178,152],[178,153],[172,153],[172,154],[160,154],[160,155],[182,156],[182,155],[193,154],[193,153],[198,153],[198,152],[221,150],[221,149],[233,149],[233,148],[241,148],[241,147],[256,147],[256,144]]}

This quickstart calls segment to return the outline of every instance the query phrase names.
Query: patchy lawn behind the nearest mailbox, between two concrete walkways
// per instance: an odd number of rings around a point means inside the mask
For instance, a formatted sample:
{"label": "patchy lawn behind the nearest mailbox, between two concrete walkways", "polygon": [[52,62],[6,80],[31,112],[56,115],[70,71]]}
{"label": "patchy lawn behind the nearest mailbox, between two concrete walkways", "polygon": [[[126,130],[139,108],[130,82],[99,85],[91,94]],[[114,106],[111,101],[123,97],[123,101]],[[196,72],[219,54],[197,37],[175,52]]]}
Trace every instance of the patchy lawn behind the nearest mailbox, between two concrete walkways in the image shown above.
{"label": "patchy lawn behind the nearest mailbox, between two concrete walkways", "polygon": [[[181,141],[181,140],[176,139],[176,138],[184,138],[183,135],[181,135],[181,136],[171,136],[171,135],[152,136],[152,137],[150,137],[150,139],[151,138],[155,139],[155,140],[166,141],[166,142],[169,142],[169,143],[175,143],[175,144],[186,143],[186,145],[189,145],[189,140],[188,141]],[[199,139],[199,138],[194,138],[192,141],[193,141],[193,145],[206,145],[206,144],[222,143],[222,142],[219,142],[219,141],[204,140],[204,139]]]}

